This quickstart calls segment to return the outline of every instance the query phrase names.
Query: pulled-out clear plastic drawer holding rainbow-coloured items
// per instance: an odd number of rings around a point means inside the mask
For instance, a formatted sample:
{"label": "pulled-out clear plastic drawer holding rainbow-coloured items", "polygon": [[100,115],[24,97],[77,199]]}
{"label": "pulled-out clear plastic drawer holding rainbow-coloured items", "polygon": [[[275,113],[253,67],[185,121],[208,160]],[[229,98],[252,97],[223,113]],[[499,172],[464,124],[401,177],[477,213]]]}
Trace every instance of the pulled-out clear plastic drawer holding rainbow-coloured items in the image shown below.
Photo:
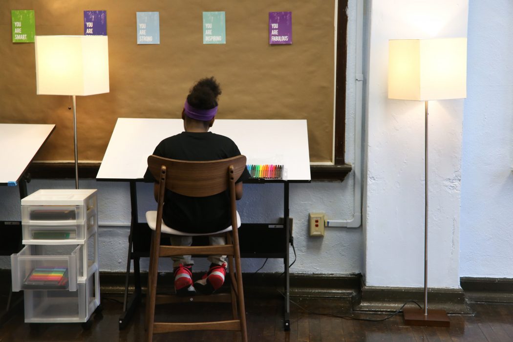
{"label": "pulled-out clear plastic drawer holding rainbow-coloured items", "polygon": [[12,290],[76,291],[81,249],[83,245],[29,245],[12,254]]}

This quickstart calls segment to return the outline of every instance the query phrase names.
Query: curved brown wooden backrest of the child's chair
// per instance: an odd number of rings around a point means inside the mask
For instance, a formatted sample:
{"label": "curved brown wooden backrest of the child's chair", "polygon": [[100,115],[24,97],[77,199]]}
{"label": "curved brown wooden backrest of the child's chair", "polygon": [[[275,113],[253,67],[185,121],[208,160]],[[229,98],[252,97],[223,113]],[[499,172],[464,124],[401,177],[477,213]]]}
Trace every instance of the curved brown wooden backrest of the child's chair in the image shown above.
{"label": "curved brown wooden backrest of the child's chair", "polygon": [[[233,166],[233,171],[230,166]],[[167,189],[191,197],[211,196],[225,191],[230,180],[235,182],[239,179],[245,167],[244,155],[208,162],[188,162],[156,155],[148,157],[148,168],[157,182],[165,180]],[[165,179],[161,179],[163,175]]]}

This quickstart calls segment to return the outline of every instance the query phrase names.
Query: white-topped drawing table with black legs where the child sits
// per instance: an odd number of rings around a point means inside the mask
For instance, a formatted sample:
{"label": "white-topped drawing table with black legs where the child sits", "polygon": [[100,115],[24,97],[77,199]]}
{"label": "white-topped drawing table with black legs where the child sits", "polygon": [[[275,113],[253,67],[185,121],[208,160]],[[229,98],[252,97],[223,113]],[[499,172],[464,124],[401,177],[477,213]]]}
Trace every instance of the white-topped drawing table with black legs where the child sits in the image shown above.
{"label": "white-topped drawing table with black legs where the child sits", "polygon": [[[131,225],[125,300],[120,329],[126,327],[141,300],[139,259],[149,256],[150,229],[137,218],[135,182],[142,181],[147,158],[164,138],[183,132],[182,119],[119,118],[110,138],[97,180],[120,180],[130,183]],[[242,224],[239,230],[243,257],[283,258],[285,268],[285,330],[290,329],[289,308],[289,183],[310,182],[310,158],[306,120],[237,120],[217,119],[211,132],[230,137],[256,165],[283,165],[283,179],[250,179],[247,183],[283,183],[284,213],[282,224]],[[269,235],[267,235],[269,234]],[[273,246],[273,242],[275,243]],[[264,248],[265,250],[262,250]],[[135,291],[128,301],[131,259],[134,260]]]}

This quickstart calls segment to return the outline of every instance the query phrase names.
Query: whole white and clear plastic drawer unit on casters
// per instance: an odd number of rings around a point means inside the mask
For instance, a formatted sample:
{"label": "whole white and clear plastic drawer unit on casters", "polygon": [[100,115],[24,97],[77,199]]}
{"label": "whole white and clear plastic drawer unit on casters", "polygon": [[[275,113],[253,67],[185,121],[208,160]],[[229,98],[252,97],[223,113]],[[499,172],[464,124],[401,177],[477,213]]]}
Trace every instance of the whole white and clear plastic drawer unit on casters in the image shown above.
{"label": "whole white and clear plastic drawer unit on casters", "polygon": [[22,199],[23,244],[11,255],[13,291],[28,323],[83,322],[100,306],[95,189],[38,190]]}

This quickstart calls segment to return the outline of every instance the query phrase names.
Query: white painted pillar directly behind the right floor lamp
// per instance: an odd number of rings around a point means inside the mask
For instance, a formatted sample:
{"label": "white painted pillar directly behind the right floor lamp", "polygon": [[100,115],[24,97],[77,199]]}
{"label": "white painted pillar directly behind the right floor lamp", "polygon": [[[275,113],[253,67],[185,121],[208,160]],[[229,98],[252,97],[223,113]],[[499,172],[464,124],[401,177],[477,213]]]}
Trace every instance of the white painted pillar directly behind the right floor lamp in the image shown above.
{"label": "white painted pillar directly behind the right floor lamp", "polygon": [[[467,12],[467,0],[371,4],[367,286],[424,284],[424,103],[387,98],[388,40],[466,37]],[[429,103],[429,287],[459,288],[463,105],[461,99]]]}

